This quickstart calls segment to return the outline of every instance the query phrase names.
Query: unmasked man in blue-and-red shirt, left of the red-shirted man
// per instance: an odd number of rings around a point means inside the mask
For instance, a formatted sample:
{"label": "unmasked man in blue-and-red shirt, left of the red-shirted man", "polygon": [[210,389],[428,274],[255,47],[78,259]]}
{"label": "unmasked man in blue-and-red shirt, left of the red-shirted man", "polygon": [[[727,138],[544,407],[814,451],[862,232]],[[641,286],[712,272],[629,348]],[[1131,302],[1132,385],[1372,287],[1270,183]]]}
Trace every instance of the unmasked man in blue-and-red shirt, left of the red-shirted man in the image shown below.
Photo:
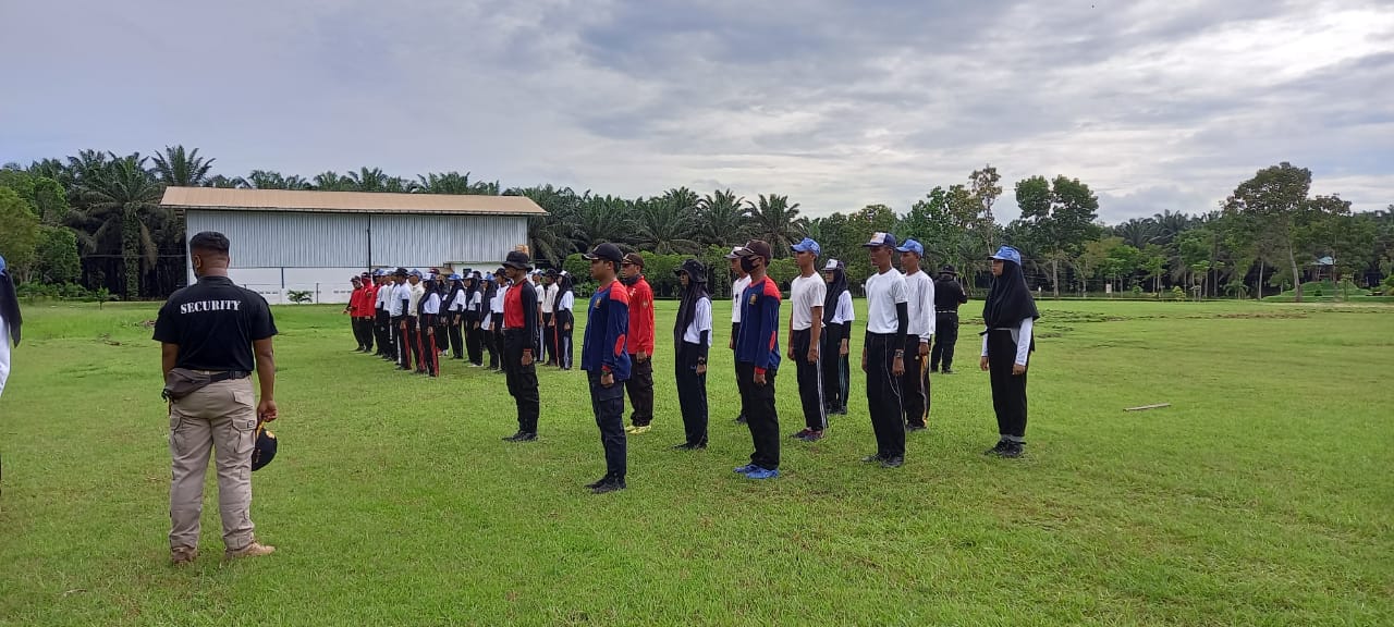
{"label": "unmasked man in blue-and-red shirt, left of the red-shirted man", "polygon": [[605,477],[588,483],[592,493],[622,490],[629,471],[629,451],[625,439],[625,379],[630,373],[625,334],[629,330],[629,294],[616,281],[620,255],[615,244],[601,244],[583,255],[591,262],[591,279],[599,287],[591,294],[581,336],[581,369],[590,380],[591,411],[605,449]]}

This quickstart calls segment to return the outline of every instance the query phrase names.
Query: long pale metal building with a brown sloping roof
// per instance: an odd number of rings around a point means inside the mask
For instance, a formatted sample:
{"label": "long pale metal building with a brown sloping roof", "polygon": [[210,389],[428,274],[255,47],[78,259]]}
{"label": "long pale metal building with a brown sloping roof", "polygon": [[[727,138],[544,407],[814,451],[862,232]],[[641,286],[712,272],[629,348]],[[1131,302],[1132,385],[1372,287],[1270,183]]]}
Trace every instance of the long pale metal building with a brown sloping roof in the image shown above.
{"label": "long pale metal building with a brown sloping roof", "polygon": [[527,196],[208,187],[170,187],[160,205],[184,216],[187,237],[227,235],[233,281],[273,304],[290,291],[347,302],[348,277],[374,268],[492,270],[545,213]]}

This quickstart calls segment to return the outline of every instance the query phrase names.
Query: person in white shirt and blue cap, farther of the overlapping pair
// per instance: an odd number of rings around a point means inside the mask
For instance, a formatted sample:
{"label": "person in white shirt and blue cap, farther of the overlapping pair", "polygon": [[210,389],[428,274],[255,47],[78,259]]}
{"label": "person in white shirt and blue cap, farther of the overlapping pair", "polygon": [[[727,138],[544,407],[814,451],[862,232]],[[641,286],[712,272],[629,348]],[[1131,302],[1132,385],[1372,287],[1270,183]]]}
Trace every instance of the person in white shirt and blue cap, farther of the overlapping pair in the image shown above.
{"label": "person in white shirt and blue cap, farther of the overlapping pair", "polygon": [[934,279],[920,269],[924,247],[906,240],[901,251],[901,272],[905,276],[906,311],[910,315],[909,334],[905,336],[905,375],[901,376],[901,405],[906,431],[924,431],[930,417],[930,341],[934,337]]}

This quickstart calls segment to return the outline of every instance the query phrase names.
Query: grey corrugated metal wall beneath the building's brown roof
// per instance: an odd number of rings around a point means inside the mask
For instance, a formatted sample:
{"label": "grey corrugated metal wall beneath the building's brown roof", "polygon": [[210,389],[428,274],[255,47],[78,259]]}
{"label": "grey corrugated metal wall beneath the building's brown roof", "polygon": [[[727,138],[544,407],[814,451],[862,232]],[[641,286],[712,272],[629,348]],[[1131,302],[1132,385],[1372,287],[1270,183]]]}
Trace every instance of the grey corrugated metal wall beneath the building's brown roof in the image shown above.
{"label": "grey corrugated metal wall beneath the building's brown roof", "polygon": [[428,268],[500,262],[527,241],[527,217],[188,210],[199,231],[231,240],[233,268]]}

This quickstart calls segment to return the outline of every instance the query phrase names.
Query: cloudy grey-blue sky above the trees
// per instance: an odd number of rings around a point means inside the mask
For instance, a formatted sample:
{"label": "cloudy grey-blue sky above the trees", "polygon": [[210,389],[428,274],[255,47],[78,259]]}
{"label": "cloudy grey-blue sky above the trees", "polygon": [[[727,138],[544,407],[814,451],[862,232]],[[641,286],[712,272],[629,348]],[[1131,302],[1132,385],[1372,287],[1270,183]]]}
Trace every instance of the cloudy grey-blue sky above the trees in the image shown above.
{"label": "cloudy grey-blue sky above the trees", "polygon": [[198,146],[216,171],[788,194],[809,215],[997,166],[1100,217],[1278,162],[1394,202],[1394,1],[3,1],[0,162]]}

